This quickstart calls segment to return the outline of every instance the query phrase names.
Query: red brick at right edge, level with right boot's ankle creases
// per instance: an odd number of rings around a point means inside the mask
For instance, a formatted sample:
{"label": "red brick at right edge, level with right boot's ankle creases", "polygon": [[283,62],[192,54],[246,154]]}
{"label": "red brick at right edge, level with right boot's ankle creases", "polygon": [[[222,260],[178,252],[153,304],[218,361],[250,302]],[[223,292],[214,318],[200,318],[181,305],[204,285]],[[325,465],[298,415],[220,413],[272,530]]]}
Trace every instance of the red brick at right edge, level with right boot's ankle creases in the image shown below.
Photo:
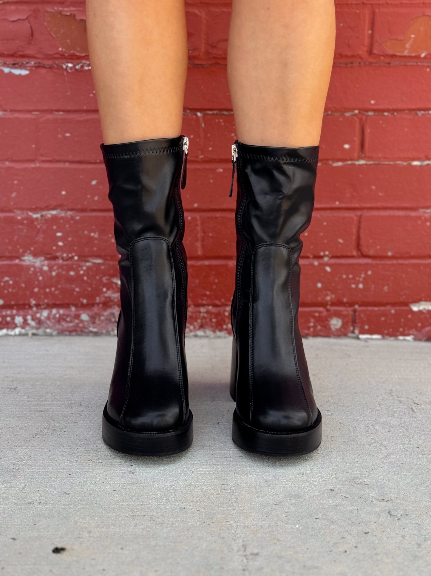
{"label": "red brick at right edge, level with right boot's ankle creases", "polygon": [[360,250],[364,256],[431,256],[431,213],[364,214]]}

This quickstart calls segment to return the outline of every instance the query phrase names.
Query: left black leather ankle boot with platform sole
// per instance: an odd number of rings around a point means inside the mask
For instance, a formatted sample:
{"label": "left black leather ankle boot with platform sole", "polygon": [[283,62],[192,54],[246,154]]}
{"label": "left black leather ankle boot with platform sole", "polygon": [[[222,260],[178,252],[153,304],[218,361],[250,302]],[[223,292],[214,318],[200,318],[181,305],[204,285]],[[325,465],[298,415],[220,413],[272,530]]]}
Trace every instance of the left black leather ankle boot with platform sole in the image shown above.
{"label": "left black leather ankle boot with platform sole", "polygon": [[182,187],[186,180],[187,145],[181,136],[101,145],[120,255],[121,300],[102,437],[119,452],[175,454],[193,440],[179,191],[181,172]]}

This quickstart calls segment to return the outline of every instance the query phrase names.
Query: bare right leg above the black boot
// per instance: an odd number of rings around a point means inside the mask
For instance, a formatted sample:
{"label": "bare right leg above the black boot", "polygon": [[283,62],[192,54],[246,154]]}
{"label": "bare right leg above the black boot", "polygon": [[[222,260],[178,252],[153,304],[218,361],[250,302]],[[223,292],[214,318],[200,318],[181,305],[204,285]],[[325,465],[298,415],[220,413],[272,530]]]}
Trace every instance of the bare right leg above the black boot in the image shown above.
{"label": "bare right leg above the black boot", "polygon": [[233,0],[228,76],[241,142],[318,144],[334,39],[333,0]]}

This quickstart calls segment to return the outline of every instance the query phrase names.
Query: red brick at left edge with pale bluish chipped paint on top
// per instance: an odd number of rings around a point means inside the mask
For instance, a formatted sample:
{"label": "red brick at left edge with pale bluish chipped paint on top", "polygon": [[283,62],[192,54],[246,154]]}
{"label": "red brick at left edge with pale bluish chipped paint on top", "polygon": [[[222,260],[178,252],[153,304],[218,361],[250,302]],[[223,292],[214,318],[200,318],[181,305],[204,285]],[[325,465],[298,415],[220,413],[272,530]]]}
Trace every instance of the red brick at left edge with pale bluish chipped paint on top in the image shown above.
{"label": "red brick at left edge with pale bluish chipped paint on top", "polygon": [[18,67],[3,64],[0,86],[0,109],[3,111],[97,110],[90,70],[68,72],[56,65]]}

